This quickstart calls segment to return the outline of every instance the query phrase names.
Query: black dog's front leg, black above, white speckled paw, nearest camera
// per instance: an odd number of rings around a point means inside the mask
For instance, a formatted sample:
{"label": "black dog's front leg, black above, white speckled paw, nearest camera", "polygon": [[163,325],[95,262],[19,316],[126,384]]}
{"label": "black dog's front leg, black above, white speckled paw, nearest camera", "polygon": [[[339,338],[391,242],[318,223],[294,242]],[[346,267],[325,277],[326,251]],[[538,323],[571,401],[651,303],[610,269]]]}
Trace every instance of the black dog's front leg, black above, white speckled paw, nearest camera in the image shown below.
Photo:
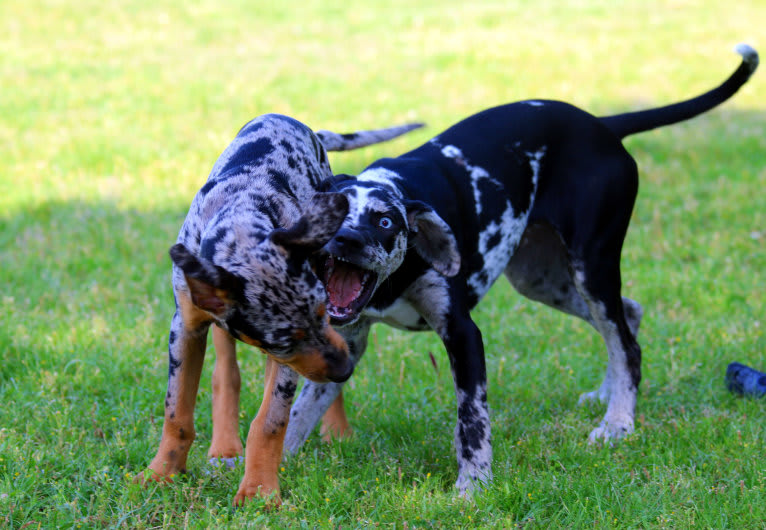
{"label": "black dog's front leg, black above, white speckled paw, nearest camera", "polygon": [[457,395],[455,487],[470,496],[492,480],[492,441],[487,407],[487,372],[481,332],[468,312],[450,316],[442,336],[450,359]]}

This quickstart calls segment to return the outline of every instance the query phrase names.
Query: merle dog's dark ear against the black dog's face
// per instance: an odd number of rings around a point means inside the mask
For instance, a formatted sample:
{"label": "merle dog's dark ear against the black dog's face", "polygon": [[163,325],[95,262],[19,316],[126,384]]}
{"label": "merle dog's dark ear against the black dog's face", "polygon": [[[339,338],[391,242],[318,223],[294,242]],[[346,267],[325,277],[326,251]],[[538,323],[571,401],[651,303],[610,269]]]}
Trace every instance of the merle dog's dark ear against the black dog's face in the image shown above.
{"label": "merle dog's dark ear against the black dog's face", "polygon": [[271,241],[288,250],[314,252],[332,239],[348,215],[348,199],[341,193],[317,193],[290,228],[277,228]]}

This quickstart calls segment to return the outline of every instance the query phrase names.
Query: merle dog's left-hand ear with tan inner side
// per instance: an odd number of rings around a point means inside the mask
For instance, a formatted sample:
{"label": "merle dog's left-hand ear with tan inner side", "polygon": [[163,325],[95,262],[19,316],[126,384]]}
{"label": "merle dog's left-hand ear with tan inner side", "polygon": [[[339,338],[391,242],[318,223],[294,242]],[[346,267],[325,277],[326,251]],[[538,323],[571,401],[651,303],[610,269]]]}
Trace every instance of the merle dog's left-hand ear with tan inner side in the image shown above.
{"label": "merle dog's left-hand ear with tan inner side", "polygon": [[194,305],[224,318],[242,293],[240,278],[195,256],[181,243],[170,247],[170,259],[184,273]]}

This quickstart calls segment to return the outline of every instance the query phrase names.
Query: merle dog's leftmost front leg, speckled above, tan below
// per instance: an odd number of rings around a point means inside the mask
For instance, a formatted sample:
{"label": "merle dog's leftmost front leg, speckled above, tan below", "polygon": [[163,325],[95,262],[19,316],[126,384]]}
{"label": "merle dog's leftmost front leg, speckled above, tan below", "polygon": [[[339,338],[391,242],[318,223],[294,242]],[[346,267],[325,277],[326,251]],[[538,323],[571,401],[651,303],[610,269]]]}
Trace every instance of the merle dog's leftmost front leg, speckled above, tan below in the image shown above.
{"label": "merle dog's leftmost front leg, speckled above, tan below", "polygon": [[189,302],[186,308],[190,309],[190,301],[181,299],[170,327],[168,391],[160,446],[149,464],[151,474],[139,480],[170,482],[173,475],[186,471],[186,458],[194,441],[194,405],[209,323],[193,318],[193,311],[182,318],[184,301]]}

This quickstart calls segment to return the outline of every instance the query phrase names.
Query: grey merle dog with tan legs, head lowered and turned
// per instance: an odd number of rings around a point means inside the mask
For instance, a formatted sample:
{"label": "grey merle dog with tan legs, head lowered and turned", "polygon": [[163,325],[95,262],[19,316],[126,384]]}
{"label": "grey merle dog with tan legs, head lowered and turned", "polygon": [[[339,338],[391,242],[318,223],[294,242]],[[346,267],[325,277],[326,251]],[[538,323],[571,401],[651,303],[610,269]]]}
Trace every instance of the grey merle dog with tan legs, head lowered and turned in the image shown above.
{"label": "grey merle dog with tan legs, head lowered and turned", "polygon": [[235,503],[258,493],[273,493],[278,502],[277,466],[296,371],[312,381],[340,382],[353,370],[345,341],[329,325],[324,285],[308,260],[348,212],[341,193],[317,193],[319,183],[332,176],[326,149],[362,147],[419,126],[314,134],[292,118],[268,114],[246,124],[221,154],[170,249],[176,312],[165,423],[145,478],[167,481],[185,469],[207,334],[215,324],[209,455],[242,452],[239,339],[263,350],[268,361]]}

